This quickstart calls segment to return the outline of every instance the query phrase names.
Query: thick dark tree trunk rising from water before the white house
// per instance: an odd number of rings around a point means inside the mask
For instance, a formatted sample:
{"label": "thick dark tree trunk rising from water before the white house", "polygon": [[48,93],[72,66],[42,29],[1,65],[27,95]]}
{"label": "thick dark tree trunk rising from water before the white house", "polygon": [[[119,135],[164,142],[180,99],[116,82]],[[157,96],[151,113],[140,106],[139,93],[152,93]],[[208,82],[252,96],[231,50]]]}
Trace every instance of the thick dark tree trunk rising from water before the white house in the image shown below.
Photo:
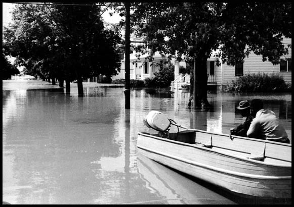
{"label": "thick dark tree trunk rising from water before the white house", "polygon": [[193,84],[191,84],[188,107],[193,107],[193,109],[207,109],[212,107],[207,100],[206,59],[197,58],[194,60]]}

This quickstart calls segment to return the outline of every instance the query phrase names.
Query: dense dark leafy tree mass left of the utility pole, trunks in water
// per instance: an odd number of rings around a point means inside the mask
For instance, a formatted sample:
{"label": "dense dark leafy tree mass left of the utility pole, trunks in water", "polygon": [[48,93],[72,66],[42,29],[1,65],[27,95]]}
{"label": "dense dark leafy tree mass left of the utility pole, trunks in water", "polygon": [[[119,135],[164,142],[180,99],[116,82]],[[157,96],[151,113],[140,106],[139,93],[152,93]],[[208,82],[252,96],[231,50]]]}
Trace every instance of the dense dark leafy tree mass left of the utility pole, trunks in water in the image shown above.
{"label": "dense dark leafy tree mass left of the utility pole, trunks in water", "polygon": [[83,78],[120,70],[120,36],[104,28],[100,6],[56,4],[16,6],[4,47],[31,73],[65,79],[66,85],[77,79],[82,96]]}

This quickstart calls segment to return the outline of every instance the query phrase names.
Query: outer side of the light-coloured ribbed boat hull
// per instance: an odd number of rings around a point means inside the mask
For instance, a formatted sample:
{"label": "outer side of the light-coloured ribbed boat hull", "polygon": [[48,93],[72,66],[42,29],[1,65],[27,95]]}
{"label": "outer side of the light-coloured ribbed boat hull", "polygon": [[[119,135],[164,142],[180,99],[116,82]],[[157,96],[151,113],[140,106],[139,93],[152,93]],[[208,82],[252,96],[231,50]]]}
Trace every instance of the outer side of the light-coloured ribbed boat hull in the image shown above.
{"label": "outer side of the light-coloured ribbed boat hull", "polygon": [[143,133],[139,133],[137,147],[149,159],[238,194],[291,198],[291,166],[243,159]]}

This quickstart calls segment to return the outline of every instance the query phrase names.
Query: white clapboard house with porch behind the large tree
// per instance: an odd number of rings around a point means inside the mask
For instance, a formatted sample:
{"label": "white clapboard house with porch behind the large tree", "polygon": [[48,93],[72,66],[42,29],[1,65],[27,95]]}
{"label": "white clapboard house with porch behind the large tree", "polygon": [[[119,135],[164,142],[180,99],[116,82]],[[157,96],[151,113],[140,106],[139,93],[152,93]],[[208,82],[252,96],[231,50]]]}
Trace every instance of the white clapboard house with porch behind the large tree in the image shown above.
{"label": "white clapboard house with porch behind the large tree", "polygon": [[[133,38],[133,41],[139,41],[140,38]],[[291,38],[284,38],[283,43],[285,47],[288,44],[291,44]],[[138,44],[138,43],[135,43]],[[288,55],[284,56],[284,59],[287,61],[281,62],[279,65],[273,65],[271,62],[262,61],[262,56],[257,56],[254,53],[249,54],[248,58],[245,58],[243,63],[237,64],[236,66],[228,66],[227,64],[221,64],[221,66],[216,65],[216,58],[213,56],[207,59],[207,84],[208,85],[216,85],[219,90],[221,90],[224,86],[230,84],[232,80],[236,80],[239,76],[243,76],[245,74],[253,74],[253,73],[267,73],[267,74],[279,74],[283,76],[285,82],[287,84],[292,84],[291,79],[291,47],[288,48]],[[153,56],[154,63],[149,63],[145,58],[147,55],[143,55],[140,57],[140,60],[137,59],[137,54],[133,51],[130,54],[130,79],[141,79],[151,78],[153,73],[158,71],[160,65],[156,66],[156,64],[161,64],[164,62],[161,55],[157,52]],[[172,63],[175,65],[175,81],[172,83],[172,87],[177,88],[177,86],[181,86],[183,84],[190,83],[190,77],[187,74],[179,74],[179,67],[186,67],[185,62],[178,63],[173,60]],[[197,66],[196,66],[197,67]],[[125,70],[124,70],[124,59],[121,64],[121,71],[117,76],[112,77],[112,79],[120,79],[125,78]]]}

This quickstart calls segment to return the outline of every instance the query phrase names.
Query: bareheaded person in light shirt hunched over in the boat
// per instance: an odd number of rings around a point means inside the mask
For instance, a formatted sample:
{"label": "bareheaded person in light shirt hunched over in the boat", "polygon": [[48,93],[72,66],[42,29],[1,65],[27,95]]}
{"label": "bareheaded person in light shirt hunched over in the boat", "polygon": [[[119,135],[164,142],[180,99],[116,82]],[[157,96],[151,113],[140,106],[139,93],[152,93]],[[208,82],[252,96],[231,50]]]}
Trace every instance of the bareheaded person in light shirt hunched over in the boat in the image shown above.
{"label": "bareheaded person in light shirt hunched over in the boat", "polygon": [[253,99],[250,103],[251,114],[254,117],[247,131],[247,136],[256,139],[266,139],[290,143],[284,127],[271,110],[263,109],[261,99]]}

